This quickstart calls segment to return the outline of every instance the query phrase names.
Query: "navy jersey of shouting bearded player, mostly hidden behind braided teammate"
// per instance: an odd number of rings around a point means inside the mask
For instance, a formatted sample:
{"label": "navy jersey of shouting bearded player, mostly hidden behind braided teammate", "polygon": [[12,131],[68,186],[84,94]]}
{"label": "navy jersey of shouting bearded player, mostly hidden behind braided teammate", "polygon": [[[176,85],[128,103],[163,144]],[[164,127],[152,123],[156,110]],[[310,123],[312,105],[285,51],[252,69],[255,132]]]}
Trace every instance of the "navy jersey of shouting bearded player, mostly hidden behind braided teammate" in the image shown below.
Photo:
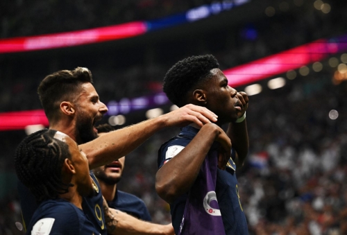
{"label": "navy jersey of shouting bearded player, mostly hidden behind braided teammate", "polygon": [[[82,208],[87,219],[98,229],[99,234],[106,235],[107,229],[105,225],[105,216],[103,214],[103,196],[101,194],[100,185],[92,171],[90,171],[90,177],[92,177],[95,195],[92,198],[83,198]],[[18,193],[25,226],[31,222],[31,218],[38,205],[33,194],[21,182],[18,182]]]}

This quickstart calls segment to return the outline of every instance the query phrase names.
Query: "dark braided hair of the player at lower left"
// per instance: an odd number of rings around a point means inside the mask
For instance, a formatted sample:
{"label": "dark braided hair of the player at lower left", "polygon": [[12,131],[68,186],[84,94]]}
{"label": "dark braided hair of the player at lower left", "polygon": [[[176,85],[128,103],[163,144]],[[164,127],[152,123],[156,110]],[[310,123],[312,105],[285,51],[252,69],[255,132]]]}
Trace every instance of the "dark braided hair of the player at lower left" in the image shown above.
{"label": "dark braided hair of the player at lower left", "polygon": [[44,129],[28,135],[15,151],[17,177],[37,202],[57,199],[72,186],[62,182],[62,165],[71,159],[69,146],[54,137],[56,132]]}

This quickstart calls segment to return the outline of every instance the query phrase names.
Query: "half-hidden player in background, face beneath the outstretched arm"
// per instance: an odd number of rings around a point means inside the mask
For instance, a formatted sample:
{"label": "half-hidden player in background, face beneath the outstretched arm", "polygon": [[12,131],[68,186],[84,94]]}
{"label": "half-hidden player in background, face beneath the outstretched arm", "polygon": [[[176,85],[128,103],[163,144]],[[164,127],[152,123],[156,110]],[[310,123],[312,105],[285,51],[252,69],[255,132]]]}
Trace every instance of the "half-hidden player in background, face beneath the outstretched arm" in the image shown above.
{"label": "half-hidden player in background, face beneath the outstretched arm", "polygon": [[[112,125],[103,124],[96,127],[99,136],[114,131]],[[93,172],[99,181],[103,198],[108,206],[118,209],[122,219],[117,224],[118,234],[174,234],[174,227],[149,223],[151,215],[144,202],[137,196],[117,189],[124,170],[125,157],[121,157],[108,165],[94,168]]]}

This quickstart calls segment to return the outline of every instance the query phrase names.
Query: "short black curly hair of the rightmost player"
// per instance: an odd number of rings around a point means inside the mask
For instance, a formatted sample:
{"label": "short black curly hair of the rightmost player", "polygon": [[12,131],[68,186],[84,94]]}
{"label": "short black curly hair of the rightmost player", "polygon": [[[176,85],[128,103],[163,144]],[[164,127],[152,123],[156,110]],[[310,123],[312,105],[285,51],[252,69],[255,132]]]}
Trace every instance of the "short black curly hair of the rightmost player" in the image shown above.
{"label": "short black curly hair of the rightmost player", "polygon": [[219,68],[219,64],[213,55],[185,58],[167,71],[162,89],[172,103],[182,107],[187,104],[187,93],[200,82],[210,78],[210,70],[216,68]]}

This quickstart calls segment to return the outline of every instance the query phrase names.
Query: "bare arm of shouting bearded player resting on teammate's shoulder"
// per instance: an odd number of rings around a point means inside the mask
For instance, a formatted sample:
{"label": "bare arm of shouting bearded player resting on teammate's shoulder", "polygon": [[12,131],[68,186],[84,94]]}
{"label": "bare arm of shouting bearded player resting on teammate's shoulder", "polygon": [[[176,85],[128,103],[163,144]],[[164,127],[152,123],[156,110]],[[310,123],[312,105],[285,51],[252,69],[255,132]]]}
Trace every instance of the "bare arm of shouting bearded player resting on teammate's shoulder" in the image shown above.
{"label": "bare arm of shouting bearded player resting on teammate's shoulder", "polygon": [[128,155],[162,128],[185,126],[189,123],[203,126],[211,121],[217,121],[217,116],[210,110],[201,106],[185,105],[155,119],[104,134],[102,137],[80,145],[80,148],[87,154],[92,169]]}

